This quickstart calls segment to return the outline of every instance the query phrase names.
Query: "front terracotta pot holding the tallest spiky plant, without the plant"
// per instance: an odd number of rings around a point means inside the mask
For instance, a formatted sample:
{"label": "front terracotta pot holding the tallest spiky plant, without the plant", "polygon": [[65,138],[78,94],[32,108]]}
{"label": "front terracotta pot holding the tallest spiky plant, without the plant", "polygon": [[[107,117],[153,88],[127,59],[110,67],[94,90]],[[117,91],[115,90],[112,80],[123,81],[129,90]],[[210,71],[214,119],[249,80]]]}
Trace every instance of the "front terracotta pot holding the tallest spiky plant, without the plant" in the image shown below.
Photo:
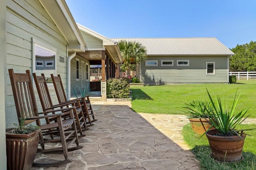
{"label": "front terracotta pot holding the tallest spiky plant, without the plant", "polygon": [[206,133],[212,157],[221,162],[236,162],[241,160],[246,135],[221,137],[216,136],[216,129]]}

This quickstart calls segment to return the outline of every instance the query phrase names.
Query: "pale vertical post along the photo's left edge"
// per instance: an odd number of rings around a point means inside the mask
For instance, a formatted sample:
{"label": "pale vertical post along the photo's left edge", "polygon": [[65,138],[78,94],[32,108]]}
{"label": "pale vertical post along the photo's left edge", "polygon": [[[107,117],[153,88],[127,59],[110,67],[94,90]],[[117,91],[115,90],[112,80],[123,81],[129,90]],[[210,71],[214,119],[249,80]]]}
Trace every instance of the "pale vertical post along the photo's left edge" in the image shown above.
{"label": "pale vertical post along the photo's left edge", "polygon": [[6,140],[5,140],[5,96],[6,96],[6,0],[1,1],[0,5],[0,165],[3,170],[7,169],[6,165]]}

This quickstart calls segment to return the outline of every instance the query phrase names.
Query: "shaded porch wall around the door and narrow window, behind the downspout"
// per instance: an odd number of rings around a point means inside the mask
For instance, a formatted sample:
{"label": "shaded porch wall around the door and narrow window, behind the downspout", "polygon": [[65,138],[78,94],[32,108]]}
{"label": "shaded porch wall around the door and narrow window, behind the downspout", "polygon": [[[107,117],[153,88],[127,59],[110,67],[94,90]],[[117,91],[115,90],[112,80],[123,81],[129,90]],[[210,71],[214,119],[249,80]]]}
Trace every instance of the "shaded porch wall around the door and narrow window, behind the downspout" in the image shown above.
{"label": "shaded porch wall around the door and narrow window, behind the downspout", "polygon": [[[76,79],[76,61],[79,61],[79,80]],[[84,62],[84,86],[90,88],[90,62],[78,55],[70,61],[70,94],[74,96],[74,90],[79,93],[78,87],[82,88],[82,62]],[[88,65],[88,80],[86,79],[86,64]],[[74,90],[73,90],[74,88]]]}

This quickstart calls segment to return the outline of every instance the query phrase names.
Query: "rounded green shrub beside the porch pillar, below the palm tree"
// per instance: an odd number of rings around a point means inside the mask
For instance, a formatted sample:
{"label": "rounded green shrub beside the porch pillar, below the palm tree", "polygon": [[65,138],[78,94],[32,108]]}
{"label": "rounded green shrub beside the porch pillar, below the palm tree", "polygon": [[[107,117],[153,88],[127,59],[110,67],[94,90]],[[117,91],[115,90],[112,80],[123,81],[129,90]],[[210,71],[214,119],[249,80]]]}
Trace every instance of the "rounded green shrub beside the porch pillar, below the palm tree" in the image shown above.
{"label": "rounded green shrub beside the porch pillar, below the palm tree", "polygon": [[126,78],[110,78],[107,80],[107,98],[129,98],[130,85]]}

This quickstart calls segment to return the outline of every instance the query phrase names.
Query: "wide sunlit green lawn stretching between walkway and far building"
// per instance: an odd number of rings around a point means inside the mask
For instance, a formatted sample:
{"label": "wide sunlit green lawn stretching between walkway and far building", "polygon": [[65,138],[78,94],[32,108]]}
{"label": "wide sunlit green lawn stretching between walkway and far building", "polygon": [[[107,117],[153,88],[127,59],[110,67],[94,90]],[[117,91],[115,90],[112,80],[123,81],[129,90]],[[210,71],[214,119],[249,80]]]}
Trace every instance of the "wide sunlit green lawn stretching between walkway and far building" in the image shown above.
{"label": "wide sunlit green lawn stretching between walkway and far building", "polygon": [[249,107],[256,118],[256,80],[238,80],[236,84],[173,84],[162,86],[131,86],[132,109],[142,113],[184,114],[182,107],[191,100],[206,100],[206,88],[215,99],[223,92],[224,100],[232,102],[238,89],[237,108]]}

